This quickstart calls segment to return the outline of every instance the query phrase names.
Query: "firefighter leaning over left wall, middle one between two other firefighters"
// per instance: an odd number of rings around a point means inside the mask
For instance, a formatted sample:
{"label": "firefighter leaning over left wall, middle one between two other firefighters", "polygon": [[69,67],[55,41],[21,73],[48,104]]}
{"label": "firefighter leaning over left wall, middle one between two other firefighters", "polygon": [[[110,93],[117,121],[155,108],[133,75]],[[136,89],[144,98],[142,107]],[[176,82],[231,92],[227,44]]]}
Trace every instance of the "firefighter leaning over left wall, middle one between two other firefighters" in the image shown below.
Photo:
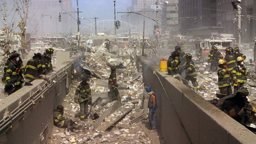
{"label": "firefighter leaning over left wall, middle one between two other firefighters", "polygon": [[40,74],[45,75],[46,68],[41,64],[42,54],[34,53],[33,59],[30,59],[26,65],[26,72],[24,77],[28,82],[32,82],[38,78]]}

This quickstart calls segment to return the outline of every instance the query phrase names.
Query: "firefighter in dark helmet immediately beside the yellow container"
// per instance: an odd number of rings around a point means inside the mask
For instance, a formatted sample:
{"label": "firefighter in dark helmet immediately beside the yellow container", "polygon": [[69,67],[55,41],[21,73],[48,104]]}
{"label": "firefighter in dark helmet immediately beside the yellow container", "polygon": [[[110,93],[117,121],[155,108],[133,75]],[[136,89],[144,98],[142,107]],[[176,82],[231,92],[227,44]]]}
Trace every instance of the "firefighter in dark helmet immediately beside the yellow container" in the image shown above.
{"label": "firefighter in dark helmet immediately beside the yellow container", "polygon": [[174,51],[171,53],[171,56],[169,56],[169,59],[167,61],[167,71],[168,75],[173,75],[174,78],[177,78],[179,81],[181,81],[181,75],[179,75],[179,67],[180,67],[180,58],[179,58],[178,51]]}

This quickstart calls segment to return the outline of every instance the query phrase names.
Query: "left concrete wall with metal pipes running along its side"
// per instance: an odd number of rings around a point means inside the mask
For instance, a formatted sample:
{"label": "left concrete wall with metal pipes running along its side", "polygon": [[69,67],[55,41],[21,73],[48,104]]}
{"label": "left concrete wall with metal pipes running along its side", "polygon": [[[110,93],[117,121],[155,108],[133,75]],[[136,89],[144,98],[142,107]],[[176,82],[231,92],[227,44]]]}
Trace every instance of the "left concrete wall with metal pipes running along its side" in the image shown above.
{"label": "left concrete wall with metal pipes running along its side", "polygon": [[[53,127],[53,110],[62,103],[70,88],[72,66],[76,59],[54,68],[56,72],[50,81],[34,80],[32,86],[24,86],[0,101],[0,120],[11,122],[1,133],[0,144],[47,143]],[[15,111],[20,113],[19,117],[18,114],[6,117]]]}

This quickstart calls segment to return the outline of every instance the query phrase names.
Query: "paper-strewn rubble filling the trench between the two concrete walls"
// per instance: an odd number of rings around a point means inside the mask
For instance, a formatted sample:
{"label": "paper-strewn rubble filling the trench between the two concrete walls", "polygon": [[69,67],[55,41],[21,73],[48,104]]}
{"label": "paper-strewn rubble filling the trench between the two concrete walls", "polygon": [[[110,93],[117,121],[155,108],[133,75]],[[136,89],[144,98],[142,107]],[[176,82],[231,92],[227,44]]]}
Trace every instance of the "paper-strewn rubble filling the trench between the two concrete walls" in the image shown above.
{"label": "paper-strewn rubble filling the trench between the two concrete walls", "polygon": [[[102,47],[98,47],[98,49],[105,50]],[[124,49],[126,49],[126,53],[129,53],[128,48]],[[54,126],[48,143],[151,143],[152,141],[160,143],[157,132],[150,130],[148,120],[143,120],[143,123],[130,124],[131,120],[143,113],[141,99],[145,90],[142,75],[137,72],[136,66],[133,66],[131,56],[102,56],[100,51],[97,51],[96,53],[87,53],[85,61],[82,62],[82,67],[91,71],[88,83],[92,91],[93,106],[88,108],[88,112],[91,109],[90,116],[86,121],[81,121],[79,118],[80,107],[79,104],[75,104],[74,95],[77,85],[81,81],[79,78],[73,79],[72,86],[62,105],[65,108],[64,116],[71,118],[81,128],[68,132]],[[110,66],[117,66],[121,105],[101,121],[101,116],[108,113],[109,109],[117,103],[107,96]],[[98,100],[96,97],[98,94],[102,101],[94,106],[94,102]],[[95,114],[100,117],[95,118]],[[99,120],[100,124],[96,128],[95,123],[98,123]],[[152,137],[152,135],[154,136]]]}

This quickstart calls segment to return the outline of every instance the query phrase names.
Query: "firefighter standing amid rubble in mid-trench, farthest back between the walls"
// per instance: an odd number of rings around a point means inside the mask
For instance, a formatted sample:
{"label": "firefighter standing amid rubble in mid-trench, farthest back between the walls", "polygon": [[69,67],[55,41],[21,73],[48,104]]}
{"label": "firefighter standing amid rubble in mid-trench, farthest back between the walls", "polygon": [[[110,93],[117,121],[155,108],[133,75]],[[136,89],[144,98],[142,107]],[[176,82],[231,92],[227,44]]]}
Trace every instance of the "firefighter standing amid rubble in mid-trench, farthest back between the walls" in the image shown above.
{"label": "firefighter standing amid rubble in mid-trench, farthest back between the walls", "polygon": [[109,75],[109,78],[108,78],[108,88],[110,88],[110,95],[112,100],[120,100],[119,91],[117,89],[118,84],[117,84],[116,67],[113,66],[110,68],[110,70],[111,70],[111,74]]}

